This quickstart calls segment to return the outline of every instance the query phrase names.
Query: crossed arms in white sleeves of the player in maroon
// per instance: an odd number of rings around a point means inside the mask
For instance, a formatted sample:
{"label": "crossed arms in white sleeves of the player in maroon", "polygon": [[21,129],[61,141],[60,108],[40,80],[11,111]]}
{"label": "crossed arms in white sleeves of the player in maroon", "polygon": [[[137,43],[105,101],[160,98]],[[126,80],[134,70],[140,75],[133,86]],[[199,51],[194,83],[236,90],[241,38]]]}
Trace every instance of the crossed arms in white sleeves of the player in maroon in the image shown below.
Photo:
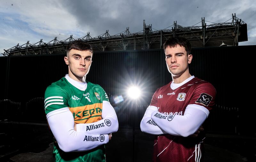
{"label": "crossed arms in white sleeves of the player in maroon", "polygon": [[[155,106],[149,106],[140,122],[140,129],[153,135],[171,134],[184,136],[194,134],[209,115],[205,107],[190,104],[184,115],[165,115]],[[168,118],[169,117],[169,118]]]}

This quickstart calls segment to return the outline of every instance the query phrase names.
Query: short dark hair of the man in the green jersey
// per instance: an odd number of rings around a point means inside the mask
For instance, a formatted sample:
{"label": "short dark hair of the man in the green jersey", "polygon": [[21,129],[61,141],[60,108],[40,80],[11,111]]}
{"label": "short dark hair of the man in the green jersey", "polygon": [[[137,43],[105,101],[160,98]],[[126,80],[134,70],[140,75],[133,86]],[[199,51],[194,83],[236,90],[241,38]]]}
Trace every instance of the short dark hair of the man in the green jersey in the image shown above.
{"label": "short dark hair of the man in the green jersey", "polygon": [[90,51],[93,54],[92,46],[84,41],[73,41],[67,46],[67,54],[71,49],[79,51]]}

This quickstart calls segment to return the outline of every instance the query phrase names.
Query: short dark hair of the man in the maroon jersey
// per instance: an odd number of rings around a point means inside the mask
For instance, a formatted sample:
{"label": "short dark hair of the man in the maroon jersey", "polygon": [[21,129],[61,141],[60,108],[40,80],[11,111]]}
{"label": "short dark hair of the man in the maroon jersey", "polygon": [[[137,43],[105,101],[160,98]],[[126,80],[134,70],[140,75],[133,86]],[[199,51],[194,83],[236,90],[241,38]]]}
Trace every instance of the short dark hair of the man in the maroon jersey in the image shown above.
{"label": "short dark hair of the man in the maroon jersey", "polygon": [[191,44],[186,38],[178,37],[178,38],[170,38],[164,42],[164,52],[167,47],[174,48],[177,45],[184,47],[187,51],[187,55],[191,54]]}

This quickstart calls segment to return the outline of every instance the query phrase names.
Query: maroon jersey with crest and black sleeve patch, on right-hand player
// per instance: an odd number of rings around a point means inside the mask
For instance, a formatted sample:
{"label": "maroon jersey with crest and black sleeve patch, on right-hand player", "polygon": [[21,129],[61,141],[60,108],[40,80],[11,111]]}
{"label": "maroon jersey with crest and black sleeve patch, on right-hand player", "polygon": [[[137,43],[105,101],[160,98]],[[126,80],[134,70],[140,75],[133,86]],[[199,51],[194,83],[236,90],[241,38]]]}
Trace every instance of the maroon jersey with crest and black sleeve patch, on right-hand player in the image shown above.
{"label": "maroon jersey with crest and black sleeve patch, on right-hand player", "polygon": [[[186,107],[196,104],[212,109],[216,90],[209,82],[197,77],[176,88],[171,83],[158,88],[150,105],[158,107],[160,113],[166,115],[183,115]],[[206,110],[207,111],[207,110]],[[200,134],[199,134],[200,135]],[[154,140],[154,161],[202,161],[204,136],[182,137],[163,134]]]}

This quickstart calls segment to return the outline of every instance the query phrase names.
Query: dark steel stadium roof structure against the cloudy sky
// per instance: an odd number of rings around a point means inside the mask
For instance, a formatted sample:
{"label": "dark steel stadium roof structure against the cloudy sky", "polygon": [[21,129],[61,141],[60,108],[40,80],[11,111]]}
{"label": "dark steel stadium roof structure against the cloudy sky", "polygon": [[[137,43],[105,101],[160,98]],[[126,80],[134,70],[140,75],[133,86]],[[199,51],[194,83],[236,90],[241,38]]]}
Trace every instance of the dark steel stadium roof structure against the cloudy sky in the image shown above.
{"label": "dark steel stadium roof structure against the cloudy sky", "polygon": [[[228,22],[231,21],[232,22]],[[125,31],[109,35],[106,33],[92,38],[90,33],[78,38],[89,43],[93,51],[118,51],[118,50],[141,50],[141,49],[161,49],[163,43],[168,38],[185,37],[192,47],[213,47],[225,43],[228,46],[238,46],[238,42],[248,41],[247,24],[232,14],[232,18],[224,23],[211,23],[206,25],[204,18],[201,18],[201,26],[180,26],[174,21],[172,26],[163,30],[152,30],[152,24],[146,25],[143,20],[143,30],[137,33],[130,33],[129,27]],[[171,28],[172,29],[168,29]],[[70,35],[69,38],[58,41],[55,37],[52,41],[40,41],[30,44],[29,41],[23,45],[16,45],[10,49],[4,49],[4,56],[12,55],[42,55],[42,54],[61,54],[66,53],[66,46],[75,39]]]}

